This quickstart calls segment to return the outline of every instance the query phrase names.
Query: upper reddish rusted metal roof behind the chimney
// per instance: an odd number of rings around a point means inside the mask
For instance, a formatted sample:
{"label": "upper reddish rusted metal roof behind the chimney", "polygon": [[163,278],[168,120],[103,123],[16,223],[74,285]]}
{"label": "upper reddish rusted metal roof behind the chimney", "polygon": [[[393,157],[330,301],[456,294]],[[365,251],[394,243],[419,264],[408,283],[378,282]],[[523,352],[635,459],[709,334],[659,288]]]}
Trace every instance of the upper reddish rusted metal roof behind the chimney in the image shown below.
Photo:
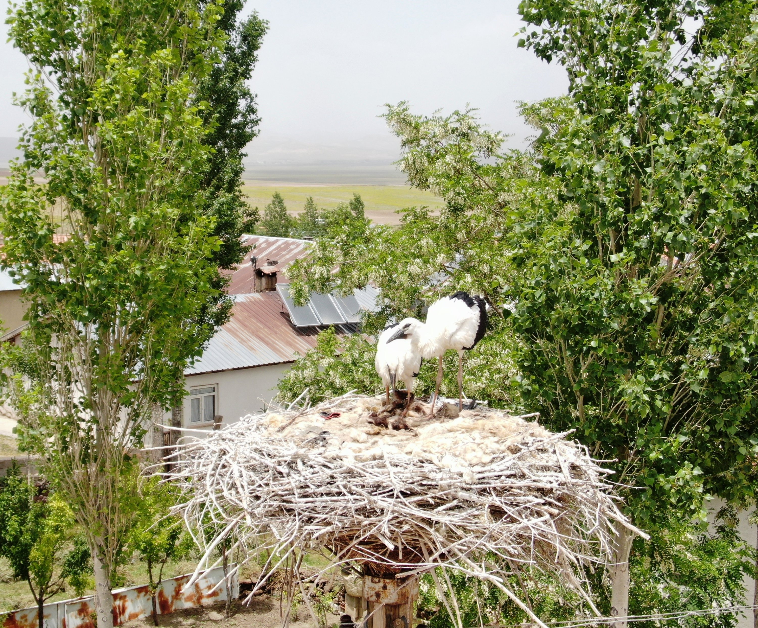
{"label": "upper reddish rusted metal roof behind the chimney", "polygon": [[[285,278],[283,270],[290,262],[301,258],[308,253],[311,243],[309,240],[296,240],[293,237],[268,237],[259,235],[244,235],[243,242],[253,245],[253,249],[243,259],[243,262],[232,272],[232,278],[227,292],[229,294],[247,294],[252,292],[255,281],[250,258],[257,259],[258,268],[265,268],[265,272],[277,272],[277,283],[290,281]],[[267,265],[267,261],[277,262]]]}

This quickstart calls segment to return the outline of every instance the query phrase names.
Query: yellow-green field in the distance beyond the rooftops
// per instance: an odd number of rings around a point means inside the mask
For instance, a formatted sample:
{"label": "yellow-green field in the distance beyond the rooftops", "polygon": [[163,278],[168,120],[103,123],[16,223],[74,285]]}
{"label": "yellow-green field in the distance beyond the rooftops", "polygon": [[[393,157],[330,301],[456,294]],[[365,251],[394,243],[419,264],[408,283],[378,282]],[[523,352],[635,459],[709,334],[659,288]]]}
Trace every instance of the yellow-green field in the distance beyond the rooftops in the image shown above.
{"label": "yellow-green field in the distance beyond the rooftops", "polygon": [[249,203],[257,206],[261,212],[268,203],[271,203],[271,195],[274,191],[284,197],[287,209],[293,213],[302,210],[308,196],[313,196],[316,205],[329,208],[337,206],[338,203],[345,203],[352,198],[353,194],[358,193],[366,205],[368,218],[383,225],[399,223],[399,215],[395,213],[398,209],[424,205],[432,209],[440,209],[444,205],[444,201],[432,193],[401,185],[296,186],[246,181],[243,186],[243,192],[248,196]]}

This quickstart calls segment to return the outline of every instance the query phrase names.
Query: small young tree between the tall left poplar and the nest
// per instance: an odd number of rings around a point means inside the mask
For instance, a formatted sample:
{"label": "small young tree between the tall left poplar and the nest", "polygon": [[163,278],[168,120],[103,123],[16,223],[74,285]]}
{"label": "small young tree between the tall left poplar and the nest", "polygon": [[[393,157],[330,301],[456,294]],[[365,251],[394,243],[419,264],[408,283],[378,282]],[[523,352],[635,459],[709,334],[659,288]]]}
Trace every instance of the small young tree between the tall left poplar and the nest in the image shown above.
{"label": "small young tree between the tall left poplar and the nest", "polygon": [[164,567],[171,560],[188,556],[194,543],[192,537],[185,533],[182,520],[168,513],[168,509],[177,502],[176,491],[171,485],[161,484],[159,478],[153,476],[139,492],[139,518],[130,533],[128,547],[135,550],[146,564],[152,598],[152,621],[158,626],[157,598]]}

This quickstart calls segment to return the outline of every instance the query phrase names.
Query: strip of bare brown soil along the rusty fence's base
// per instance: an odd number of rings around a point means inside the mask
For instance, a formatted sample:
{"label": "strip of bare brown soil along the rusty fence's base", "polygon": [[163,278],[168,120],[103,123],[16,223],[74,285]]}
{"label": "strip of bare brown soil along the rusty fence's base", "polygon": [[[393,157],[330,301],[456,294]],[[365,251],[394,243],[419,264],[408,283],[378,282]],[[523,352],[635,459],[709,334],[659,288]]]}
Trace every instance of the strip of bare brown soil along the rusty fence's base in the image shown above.
{"label": "strip of bare brown soil along the rusty fence's base", "polygon": [[[187,608],[169,615],[158,615],[158,623],[168,628],[212,628],[212,626],[233,626],[233,628],[279,628],[282,624],[279,600],[271,595],[256,595],[249,607],[240,600],[232,602],[230,617],[224,617],[224,602],[217,602],[204,608]],[[327,626],[339,626],[339,615],[328,615]],[[124,628],[153,628],[152,617],[124,623]],[[290,628],[318,628],[304,605],[290,619]]]}

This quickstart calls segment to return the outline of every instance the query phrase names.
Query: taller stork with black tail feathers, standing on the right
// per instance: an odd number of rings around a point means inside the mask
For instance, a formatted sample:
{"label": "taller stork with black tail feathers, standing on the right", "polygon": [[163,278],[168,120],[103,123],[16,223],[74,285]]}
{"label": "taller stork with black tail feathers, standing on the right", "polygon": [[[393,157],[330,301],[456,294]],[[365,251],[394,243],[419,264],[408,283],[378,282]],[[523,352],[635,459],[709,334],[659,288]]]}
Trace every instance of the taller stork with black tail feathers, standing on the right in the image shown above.
{"label": "taller stork with black tail feathers, standing on the right", "polygon": [[431,398],[430,413],[442,383],[442,356],[449,349],[458,351],[458,407],[463,409],[463,352],[471,350],[484,338],[487,328],[487,306],[484,299],[459,290],[456,294],[435,301],[429,306],[427,320],[402,319],[387,344],[408,338],[414,352],[424,358],[440,360],[437,385]]}

